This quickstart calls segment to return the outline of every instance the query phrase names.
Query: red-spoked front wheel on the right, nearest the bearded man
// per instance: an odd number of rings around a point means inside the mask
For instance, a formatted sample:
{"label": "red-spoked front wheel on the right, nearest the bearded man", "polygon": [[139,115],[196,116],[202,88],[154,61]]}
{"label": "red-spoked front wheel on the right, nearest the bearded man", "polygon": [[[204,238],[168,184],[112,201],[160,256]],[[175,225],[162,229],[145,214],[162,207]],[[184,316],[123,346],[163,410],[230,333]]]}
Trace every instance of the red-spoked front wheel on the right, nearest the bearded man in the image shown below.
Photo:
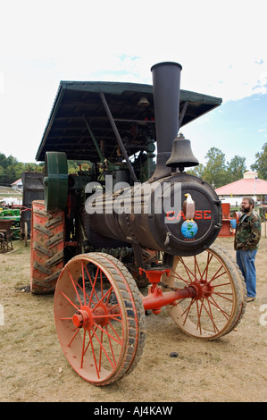
{"label": "red-spoked front wheel on the right, nearest the bearded man", "polygon": [[221,248],[208,248],[197,256],[176,256],[170,277],[171,288],[194,287],[196,296],[175,301],[168,311],[187,334],[215,340],[230,332],[246,307],[246,284],[238,265]]}

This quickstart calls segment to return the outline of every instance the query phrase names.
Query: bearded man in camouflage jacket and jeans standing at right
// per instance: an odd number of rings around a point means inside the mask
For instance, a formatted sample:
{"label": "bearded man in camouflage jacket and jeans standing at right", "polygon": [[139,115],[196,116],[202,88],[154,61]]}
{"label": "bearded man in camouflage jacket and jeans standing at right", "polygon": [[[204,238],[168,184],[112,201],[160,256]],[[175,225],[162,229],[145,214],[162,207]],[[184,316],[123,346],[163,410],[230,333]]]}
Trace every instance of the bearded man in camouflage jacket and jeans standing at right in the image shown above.
{"label": "bearded man in camouflage jacket and jeans standing at right", "polygon": [[237,251],[237,263],[245,281],[247,290],[247,302],[252,302],[256,297],[256,271],[255,256],[261,239],[261,218],[254,210],[254,199],[243,197],[240,217],[236,232],[234,248]]}

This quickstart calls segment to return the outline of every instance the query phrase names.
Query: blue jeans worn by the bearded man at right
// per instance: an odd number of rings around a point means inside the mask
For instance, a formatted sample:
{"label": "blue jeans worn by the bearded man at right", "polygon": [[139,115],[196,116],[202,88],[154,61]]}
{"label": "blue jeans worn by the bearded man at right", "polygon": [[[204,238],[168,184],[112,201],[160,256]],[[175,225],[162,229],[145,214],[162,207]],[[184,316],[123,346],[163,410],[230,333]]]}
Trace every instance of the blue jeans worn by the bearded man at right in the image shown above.
{"label": "blue jeans worn by the bearded man at right", "polygon": [[237,250],[237,263],[246,281],[247,298],[255,298],[256,296],[256,270],[254,265],[256,253],[256,249],[254,251],[249,249]]}

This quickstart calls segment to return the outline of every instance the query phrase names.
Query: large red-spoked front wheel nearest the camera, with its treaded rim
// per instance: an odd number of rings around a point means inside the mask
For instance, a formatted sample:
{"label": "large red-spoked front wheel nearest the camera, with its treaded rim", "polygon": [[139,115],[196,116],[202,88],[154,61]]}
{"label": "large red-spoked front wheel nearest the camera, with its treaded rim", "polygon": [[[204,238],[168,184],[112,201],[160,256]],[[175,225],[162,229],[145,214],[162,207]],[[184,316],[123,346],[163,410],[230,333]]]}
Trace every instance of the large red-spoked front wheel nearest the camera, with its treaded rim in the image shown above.
{"label": "large red-spoked front wheel nearest the camera, with its treaded rim", "polygon": [[88,382],[112,383],[138,364],[145,311],[136,282],[113,256],[83,254],[65,265],[54,319],[65,356]]}

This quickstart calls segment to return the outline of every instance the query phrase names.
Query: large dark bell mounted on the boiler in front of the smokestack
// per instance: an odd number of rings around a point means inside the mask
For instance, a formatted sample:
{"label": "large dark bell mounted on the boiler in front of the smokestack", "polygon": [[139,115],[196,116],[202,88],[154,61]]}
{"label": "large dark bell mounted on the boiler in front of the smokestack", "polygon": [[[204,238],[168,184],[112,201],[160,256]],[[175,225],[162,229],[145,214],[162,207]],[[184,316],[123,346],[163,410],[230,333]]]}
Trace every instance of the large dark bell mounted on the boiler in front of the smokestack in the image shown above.
{"label": "large dark bell mounted on the boiler in front of the smokestack", "polygon": [[191,142],[188,139],[176,138],[172,143],[171,156],[166,162],[166,166],[171,168],[179,168],[182,172],[185,167],[196,166],[199,164],[191,150]]}

